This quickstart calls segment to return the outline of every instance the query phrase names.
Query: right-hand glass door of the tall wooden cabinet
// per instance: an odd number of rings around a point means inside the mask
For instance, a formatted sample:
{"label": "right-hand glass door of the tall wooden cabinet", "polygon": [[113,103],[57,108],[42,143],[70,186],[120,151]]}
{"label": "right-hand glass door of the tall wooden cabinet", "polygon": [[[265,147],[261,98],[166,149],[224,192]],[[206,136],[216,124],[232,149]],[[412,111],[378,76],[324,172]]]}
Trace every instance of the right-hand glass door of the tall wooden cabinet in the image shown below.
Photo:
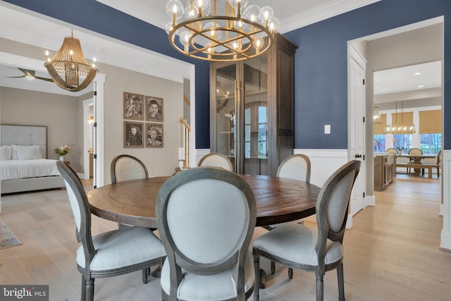
{"label": "right-hand glass door of the tall wooden cabinet", "polygon": [[242,173],[268,175],[268,61],[258,56],[244,62]]}

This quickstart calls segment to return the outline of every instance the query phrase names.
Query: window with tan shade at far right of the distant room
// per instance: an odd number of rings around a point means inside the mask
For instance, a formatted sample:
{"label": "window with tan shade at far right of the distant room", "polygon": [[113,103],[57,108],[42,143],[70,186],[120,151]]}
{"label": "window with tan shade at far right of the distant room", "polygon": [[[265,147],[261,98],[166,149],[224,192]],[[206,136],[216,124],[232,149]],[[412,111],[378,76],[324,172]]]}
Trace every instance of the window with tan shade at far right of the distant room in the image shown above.
{"label": "window with tan shade at far right of the distant room", "polygon": [[438,154],[442,149],[442,110],[419,111],[420,149],[423,154]]}

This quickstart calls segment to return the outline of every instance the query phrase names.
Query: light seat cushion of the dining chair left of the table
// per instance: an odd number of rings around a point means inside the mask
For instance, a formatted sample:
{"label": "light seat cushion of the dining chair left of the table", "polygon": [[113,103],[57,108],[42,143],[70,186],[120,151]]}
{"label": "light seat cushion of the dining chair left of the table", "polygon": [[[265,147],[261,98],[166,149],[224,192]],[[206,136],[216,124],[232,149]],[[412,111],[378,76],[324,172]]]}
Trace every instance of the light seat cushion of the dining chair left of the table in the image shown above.
{"label": "light seat cushion of the dining chair left of the table", "polygon": [[[147,258],[164,256],[166,251],[149,228],[129,227],[101,233],[92,238],[97,253],[92,271],[106,271],[145,262]],[[85,267],[85,252],[77,250],[77,264]]]}

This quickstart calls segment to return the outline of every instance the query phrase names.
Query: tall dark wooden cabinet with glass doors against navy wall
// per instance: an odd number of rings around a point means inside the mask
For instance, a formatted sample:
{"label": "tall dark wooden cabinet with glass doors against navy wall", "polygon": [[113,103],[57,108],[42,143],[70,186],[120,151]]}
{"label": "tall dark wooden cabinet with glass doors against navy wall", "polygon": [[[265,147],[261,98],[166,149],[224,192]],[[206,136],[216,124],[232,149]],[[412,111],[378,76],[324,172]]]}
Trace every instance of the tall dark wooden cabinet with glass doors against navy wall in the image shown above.
{"label": "tall dark wooden cabinet with glass doors against navy wall", "polygon": [[282,35],[268,53],[210,65],[211,151],[237,173],[276,175],[294,147],[294,54]]}

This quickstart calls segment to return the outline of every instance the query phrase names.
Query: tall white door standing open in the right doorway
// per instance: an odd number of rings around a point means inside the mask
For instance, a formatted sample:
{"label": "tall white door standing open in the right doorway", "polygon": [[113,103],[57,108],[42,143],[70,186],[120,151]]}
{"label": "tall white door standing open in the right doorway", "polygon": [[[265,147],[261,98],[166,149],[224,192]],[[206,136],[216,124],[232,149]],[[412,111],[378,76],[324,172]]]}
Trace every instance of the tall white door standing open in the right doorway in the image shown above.
{"label": "tall white door standing open in the right doorway", "polygon": [[[362,161],[359,176],[354,183],[350,199],[350,216],[364,209],[365,192],[365,68],[366,60],[359,52],[350,47],[349,70],[349,110],[348,110],[348,149],[349,159]],[[370,121],[372,119],[370,118]],[[352,223],[352,219],[350,221]]]}

